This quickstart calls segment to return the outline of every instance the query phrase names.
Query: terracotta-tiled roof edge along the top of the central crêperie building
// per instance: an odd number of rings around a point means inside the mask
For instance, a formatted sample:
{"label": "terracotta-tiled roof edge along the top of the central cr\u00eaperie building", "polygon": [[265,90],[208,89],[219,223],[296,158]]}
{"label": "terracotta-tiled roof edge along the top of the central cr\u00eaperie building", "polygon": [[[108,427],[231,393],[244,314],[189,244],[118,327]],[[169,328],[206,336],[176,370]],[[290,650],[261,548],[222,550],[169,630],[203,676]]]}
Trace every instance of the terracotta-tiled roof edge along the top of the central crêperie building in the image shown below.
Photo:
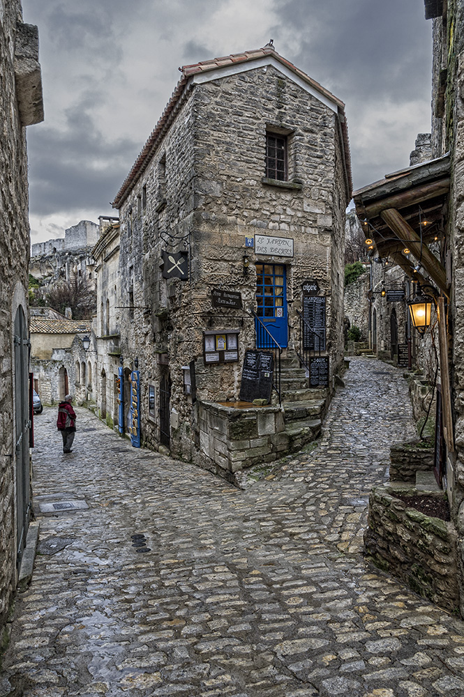
{"label": "terracotta-tiled roof edge along the top of the central cr\u00eaperie building", "polygon": [[234,64],[237,63],[244,63],[246,61],[254,61],[259,58],[262,58],[263,56],[269,56],[273,55],[277,61],[280,63],[283,63],[283,65],[287,66],[292,72],[295,73],[295,75],[298,75],[304,82],[310,84],[310,86],[313,86],[313,88],[320,92],[322,95],[324,95],[327,99],[331,100],[334,102],[338,108],[338,114],[340,116],[340,123],[342,127],[342,136],[343,136],[343,149],[345,153],[345,164],[346,164],[346,171],[347,171],[347,188],[350,190],[350,197],[351,197],[351,191],[352,191],[352,174],[351,174],[351,158],[350,158],[350,144],[348,141],[348,132],[347,132],[347,125],[346,125],[346,119],[345,119],[345,104],[342,102],[338,97],[336,97],[334,94],[329,92],[329,90],[325,89],[322,87],[322,85],[319,82],[316,82],[313,80],[312,77],[309,77],[309,75],[306,75],[303,70],[300,70],[296,66],[293,65],[293,63],[290,63],[290,61],[287,61],[287,59],[283,58],[283,56],[280,56],[278,52],[276,52],[276,49],[274,49],[273,46],[264,46],[263,48],[260,49],[254,49],[251,51],[245,51],[242,53],[236,53],[236,54],[231,54],[230,56],[221,56],[220,58],[214,58],[209,61],[201,61],[200,63],[192,63],[189,66],[182,66],[179,68],[182,72],[182,77],[177,83],[176,88],[174,89],[174,92],[171,95],[171,98],[169,102],[167,102],[167,105],[165,107],[165,110],[163,114],[161,115],[158,123],[156,124],[154,130],[151,132],[151,135],[147,142],[145,143],[144,147],[142,148],[142,151],[140,155],[138,156],[137,160],[135,160],[135,163],[133,164],[132,169],[130,169],[130,172],[126,179],[124,180],[121,188],[119,189],[119,192],[116,194],[116,197],[114,198],[113,201],[113,207],[118,208],[122,201],[124,201],[126,194],[130,191],[132,185],[137,181],[137,178],[140,176],[140,172],[147,167],[147,164],[149,162],[149,155],[154,151],[154,148],[156,148],[156,145],[158,144],[158,141],[160,138],[163,136],[163,128],[165,126],[165,123],[167,119],[170,117],[172,114],[172,111],[174,110],[174,107],[177,105],[177,102],[179,101],[179,98],[181,97],[182,92],[184,91],[184,87],[186,86],[188,82],[188,78],[191,77],[192,75],[197,75],[200,72],[208,72],[209,70],[217,70],[218,68],[224,68],[225,66],[233,66]]}

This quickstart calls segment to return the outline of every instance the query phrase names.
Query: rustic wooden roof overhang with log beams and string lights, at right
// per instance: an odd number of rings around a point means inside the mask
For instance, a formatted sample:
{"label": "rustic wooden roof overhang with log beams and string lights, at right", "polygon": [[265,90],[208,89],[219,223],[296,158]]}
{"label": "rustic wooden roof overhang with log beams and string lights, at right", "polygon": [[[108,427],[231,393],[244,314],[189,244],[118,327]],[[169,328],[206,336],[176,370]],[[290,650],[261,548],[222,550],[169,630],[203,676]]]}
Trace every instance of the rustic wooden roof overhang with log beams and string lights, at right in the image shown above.
{"label": "rustic wooden roof overhang with log beams and string lights, at right", "polygon": [[[353,194],[366,239],[377,249],[373,256],[389,257],[412,279],[426,282],[414,265],[421,264],[437,287],[449,297],[447,275],[428,245],[442,235],[450,183],[449,154],[437,160],[387,174]],[[410,250],[404,254],[403,250]],[[410,256],[414,257],[415,264]]]}

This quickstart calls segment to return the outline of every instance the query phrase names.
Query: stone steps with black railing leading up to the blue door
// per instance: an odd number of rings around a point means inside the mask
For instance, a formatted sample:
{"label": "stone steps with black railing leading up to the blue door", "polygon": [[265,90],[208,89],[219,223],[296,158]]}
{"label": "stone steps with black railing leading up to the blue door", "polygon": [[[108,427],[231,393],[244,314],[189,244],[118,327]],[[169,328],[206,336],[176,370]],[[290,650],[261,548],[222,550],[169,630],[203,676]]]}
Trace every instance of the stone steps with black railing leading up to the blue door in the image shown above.
{"label": "stone steps with black railing leading up to the blue door", "polygon": [[329,390],[308,388],[306,369],[300,367],[296,357],[282,358],[280,366],[285,433],[290,452],[295,452],[319,436],[329,406]]}

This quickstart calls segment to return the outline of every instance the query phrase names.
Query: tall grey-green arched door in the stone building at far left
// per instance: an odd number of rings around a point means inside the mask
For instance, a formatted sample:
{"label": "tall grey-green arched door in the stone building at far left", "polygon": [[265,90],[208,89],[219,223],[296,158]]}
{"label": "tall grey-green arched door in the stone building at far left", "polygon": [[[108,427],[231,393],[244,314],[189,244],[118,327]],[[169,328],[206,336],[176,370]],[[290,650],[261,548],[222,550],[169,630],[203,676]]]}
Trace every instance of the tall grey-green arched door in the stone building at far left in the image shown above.
{"label": "tall grey-green arched door in the stone building at far left", "polygon": [[29,527],[29,353],[22,307],[15,316],[16,549],[19,567]]}

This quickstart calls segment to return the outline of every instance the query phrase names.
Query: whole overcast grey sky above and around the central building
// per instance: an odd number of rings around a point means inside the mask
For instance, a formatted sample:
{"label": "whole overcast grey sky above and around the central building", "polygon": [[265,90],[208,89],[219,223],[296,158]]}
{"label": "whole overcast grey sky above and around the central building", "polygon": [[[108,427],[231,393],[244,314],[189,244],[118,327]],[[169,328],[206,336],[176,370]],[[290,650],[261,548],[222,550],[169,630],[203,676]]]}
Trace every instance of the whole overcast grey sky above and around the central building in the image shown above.
{"label": "whole overcast grey sky above and around the central building", "polygon": [[178,66],[264,46],[346,104],[354,188],[409,164],[430,130],[424,0],[23,0],[45,122],[27,129],[32,243],[114,215]]}

